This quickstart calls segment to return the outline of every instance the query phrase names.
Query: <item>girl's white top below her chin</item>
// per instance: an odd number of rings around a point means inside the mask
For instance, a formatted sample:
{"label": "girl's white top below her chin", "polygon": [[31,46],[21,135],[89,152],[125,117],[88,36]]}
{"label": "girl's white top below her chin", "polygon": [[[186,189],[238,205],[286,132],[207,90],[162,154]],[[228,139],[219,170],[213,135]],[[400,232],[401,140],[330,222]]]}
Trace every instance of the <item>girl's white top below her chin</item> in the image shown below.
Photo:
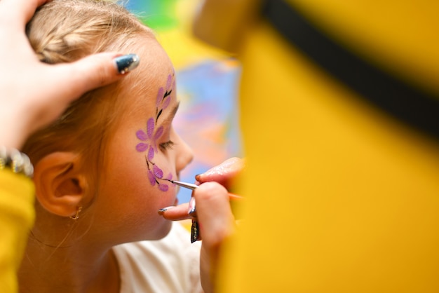
{"label": "girl's white top below her chin", "polygon": [[113,247],[121,273],[121,293],[196,293],[200,282],[201,243],[173,223],[169,234],[154,241]]}

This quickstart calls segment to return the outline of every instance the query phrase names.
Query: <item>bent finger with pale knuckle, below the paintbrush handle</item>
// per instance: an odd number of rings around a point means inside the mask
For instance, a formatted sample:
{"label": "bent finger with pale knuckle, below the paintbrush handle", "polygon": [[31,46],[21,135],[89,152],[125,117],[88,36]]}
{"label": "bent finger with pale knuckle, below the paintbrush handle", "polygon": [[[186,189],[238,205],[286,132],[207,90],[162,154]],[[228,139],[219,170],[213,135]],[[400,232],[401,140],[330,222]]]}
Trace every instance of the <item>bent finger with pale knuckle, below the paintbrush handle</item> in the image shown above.
{"label": "bent finger with pale knuckle, below the paintbrush handle", "polygon": [[197,219],[203,243],[220,245],[234,232],[234,215],[227,190],[217,182],[206,182],[194,190]]}

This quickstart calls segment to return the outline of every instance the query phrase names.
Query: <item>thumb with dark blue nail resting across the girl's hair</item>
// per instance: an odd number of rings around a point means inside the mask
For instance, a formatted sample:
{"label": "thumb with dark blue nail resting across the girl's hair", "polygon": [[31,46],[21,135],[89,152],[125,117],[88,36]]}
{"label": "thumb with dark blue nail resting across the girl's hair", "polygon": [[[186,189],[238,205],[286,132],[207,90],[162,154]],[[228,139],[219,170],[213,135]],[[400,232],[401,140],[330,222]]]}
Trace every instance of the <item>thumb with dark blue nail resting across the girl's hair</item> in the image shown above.
{"label": "thumb with dark blue nail resting across the girl's hair", "polygon": [[139,62],[140,57],[135,54],[97,53],[76,62],[59,64],[56,79],[60,88],[65,89],[65,99],[74,100],[89,90],[118,81]]}

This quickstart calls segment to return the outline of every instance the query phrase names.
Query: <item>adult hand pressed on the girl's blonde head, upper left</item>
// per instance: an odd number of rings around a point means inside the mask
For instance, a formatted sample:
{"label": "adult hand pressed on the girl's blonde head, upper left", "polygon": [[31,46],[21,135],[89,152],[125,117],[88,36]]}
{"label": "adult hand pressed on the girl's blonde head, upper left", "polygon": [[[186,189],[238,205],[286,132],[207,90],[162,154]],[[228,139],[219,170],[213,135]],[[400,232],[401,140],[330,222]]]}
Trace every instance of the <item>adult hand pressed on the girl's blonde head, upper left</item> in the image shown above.
{"label": "adult hand pressed on the girl's blonde head, upper left", "polygon": [[88,90],[121,79],[118,53],[100,53],[69,64],[40,62],[27,40],[26,23],[47,0],[0,0],[0,144],[20,148],[28,135],[55,120]]}

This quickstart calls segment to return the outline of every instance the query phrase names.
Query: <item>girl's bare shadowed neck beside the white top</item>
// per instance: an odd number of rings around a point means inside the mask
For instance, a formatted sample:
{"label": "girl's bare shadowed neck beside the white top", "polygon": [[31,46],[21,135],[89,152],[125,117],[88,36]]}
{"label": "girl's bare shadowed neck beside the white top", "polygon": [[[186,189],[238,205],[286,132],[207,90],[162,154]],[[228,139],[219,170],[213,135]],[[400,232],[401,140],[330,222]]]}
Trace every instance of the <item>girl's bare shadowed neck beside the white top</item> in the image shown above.
{"label": "girl's bare shadowed neck beside the white top", "polygon": [[[66,243],[64,243],[66,244]],[[29,238],[19,271],[20,292],[119,293],[119,267],[111,249],[90,252],[83,241],[52,247]]]}

